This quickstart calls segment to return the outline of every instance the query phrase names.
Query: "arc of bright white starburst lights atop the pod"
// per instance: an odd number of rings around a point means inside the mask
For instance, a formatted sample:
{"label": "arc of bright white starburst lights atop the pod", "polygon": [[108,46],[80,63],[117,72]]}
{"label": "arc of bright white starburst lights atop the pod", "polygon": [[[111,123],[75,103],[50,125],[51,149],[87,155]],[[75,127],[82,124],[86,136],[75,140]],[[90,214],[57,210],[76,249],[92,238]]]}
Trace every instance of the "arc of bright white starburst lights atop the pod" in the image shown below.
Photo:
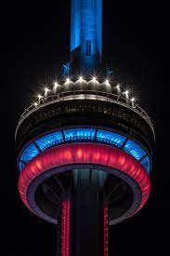
{"label": "arc of bright white starburst lights atop the pod", "polygon": [[[80,76],[79,79],[77,80],[77,82],[84,82],[84,81],[85,81],[85,80],[84,80],[83,76]],[[92,78],[92,81],[93,81],[94,83],[98,83],[97,77],[93,77],[93,78]],[[67,78],[65,84],[69,84],[69,83],[71,83],[71,82],[72,82],[72,80],[71,80],[70,78]],[[110,81],[109,81],[108,79],[106,79],[106,81],[105,81],[104,83],[105,83],[106,86],[110,86],[110,85],[111,85],[111,84],[110,84]],[[55,83],[54,83],[54,88],[53,88],[53,91],[54,91],[54,92],[56,92],[56,89],[58,88],[58,86],[59,86],[59,84],[58,84],[57,82],[55,82]],[[120,91],[120,85],[117,85],[115,88],[118,89],[119,93],[121,92],[121,91]],[[48,92],[50,92],[50,91],[51,91],[51,89],[45,88],[45,95],[44,95],[44,96],[42,96],[41,94],[38,94],[38,95],[37,95],[38,101],[40,102],[42,99],[44,99],[44,98],[46,99],[47,94],[48,94]],[[125,94],[126,100],[129,100],[129,90],[125,90],[124,92],[122,92],[122,94]],[[130,99],[130,101],[133,103],[133,105],[134,105],[134,101],[135,101],[135,100],[136,100],[135,98]],[[34,105],[35,107],[37,107],[37,106],[38,106],[38,102],[34,102],[33,105]]]}

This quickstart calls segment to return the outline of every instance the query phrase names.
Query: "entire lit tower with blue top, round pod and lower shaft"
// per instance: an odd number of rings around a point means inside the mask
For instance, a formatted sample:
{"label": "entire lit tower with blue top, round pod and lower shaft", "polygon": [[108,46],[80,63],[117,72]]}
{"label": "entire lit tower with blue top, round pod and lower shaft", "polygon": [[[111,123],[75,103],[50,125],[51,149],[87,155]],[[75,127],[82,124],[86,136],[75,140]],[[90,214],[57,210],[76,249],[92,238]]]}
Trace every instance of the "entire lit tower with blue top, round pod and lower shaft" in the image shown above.
{"label": "entire lit tower with blue top, round pod and lower shaft", "polygon": [[109,255],[109,226],[150,195],[154,136],[150,117],[104,71],[102,1],[72,0],[71,60],[16,129],[20,197],[58,224],[58,255]]}

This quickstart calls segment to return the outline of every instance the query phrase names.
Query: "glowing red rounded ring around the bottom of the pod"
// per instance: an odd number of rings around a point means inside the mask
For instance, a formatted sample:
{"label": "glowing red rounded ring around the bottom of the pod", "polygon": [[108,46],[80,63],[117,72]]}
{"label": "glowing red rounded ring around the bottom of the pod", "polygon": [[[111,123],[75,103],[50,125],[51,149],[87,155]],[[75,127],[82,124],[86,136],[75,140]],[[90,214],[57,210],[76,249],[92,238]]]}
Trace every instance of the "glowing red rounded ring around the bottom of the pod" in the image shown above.
{"label": "glowing red rounded ring around the bottom of the pod", "polygon": [[[127,177],[127,182],[129,178],[136,182],[140,189],[141,200],[137,209],[131,212],[131,216],[134,215],[137,210],[141,209],[149,198],[150,177],[145,168],[143,168],[133,156],[109,145],[98,143],[69,143],[46,150],[46,152],[34,157],[33,160],[23,168],[20,173],[19,192],[27,208],[37,214],[37,212],[33,210],[33,204],[31,206],[28,198],[30,194],[29,188],[33,182],[43,174],[46,176],[46,174],[54,168],[57,168],[56,172],[59,172],[59,168],[60,171],[63,171],[64,167],[65,170],[67,170],[68,165],[96,165],[103,168],[110,168],[113,174],[116,174],[114,173],[115,170],[122,173],[122,179]],[[118,174],[117,176],[119,177]],[[33,190],[31,193],[33,194]],[[51,222],[49,219],[50,218],[46,221]]]}

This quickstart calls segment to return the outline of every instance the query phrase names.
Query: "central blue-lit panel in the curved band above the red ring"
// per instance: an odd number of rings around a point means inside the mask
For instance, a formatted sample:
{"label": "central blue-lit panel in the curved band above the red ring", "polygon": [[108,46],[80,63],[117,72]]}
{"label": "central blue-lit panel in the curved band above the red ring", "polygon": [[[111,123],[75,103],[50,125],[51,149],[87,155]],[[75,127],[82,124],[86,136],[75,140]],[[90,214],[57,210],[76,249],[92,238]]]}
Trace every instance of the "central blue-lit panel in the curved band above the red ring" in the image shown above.
{"label": "central blue-lit panel in the curved band above the red ring", "polygon": [[93,141],[96,130],[94,128],[74,128],[64,130],[65,141]]}

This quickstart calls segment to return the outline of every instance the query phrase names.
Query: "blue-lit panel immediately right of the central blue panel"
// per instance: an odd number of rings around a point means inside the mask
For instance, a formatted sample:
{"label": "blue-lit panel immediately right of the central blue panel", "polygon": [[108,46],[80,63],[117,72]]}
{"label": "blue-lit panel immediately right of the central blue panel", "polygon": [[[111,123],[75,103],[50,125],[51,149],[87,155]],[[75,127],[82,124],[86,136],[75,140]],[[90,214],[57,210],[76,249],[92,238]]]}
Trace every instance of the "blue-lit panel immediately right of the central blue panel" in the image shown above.
{"label": "blue-lit panel immediately right of the central blue panel", "polygon": [[111,145],[115,145],[116,147],[121,148],[124,145],[125,137],[111,131],[99,129],[97,133],[97,141],[109,143]]}

